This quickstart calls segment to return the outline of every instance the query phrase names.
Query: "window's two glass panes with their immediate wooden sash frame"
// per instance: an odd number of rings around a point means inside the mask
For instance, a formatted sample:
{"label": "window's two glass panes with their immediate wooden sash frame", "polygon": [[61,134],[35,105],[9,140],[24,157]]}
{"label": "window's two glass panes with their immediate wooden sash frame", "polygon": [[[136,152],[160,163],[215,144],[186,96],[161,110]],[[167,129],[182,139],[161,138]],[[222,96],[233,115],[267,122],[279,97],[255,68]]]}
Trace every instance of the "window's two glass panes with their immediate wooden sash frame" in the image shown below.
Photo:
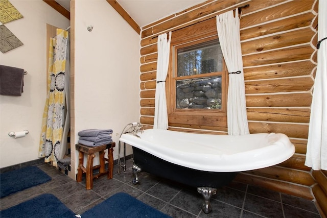
{"label": "window's two glass panes with their immediate wooden sash frame", "polygon": [[171,112],[225,112],[226,70],[217,37],[172,46]]}

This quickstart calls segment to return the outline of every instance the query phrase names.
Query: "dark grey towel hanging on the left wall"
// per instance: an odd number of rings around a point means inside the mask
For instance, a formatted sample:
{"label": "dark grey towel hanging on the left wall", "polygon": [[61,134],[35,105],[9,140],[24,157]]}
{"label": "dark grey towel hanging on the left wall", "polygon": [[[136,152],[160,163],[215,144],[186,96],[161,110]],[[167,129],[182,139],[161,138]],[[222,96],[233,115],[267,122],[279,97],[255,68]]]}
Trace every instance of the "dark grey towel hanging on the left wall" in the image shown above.
{"label": "dark grey towel hanging on the left wall", "polygon": [[24,86],[24,69],[0,65],[0,94],[20,96]]}

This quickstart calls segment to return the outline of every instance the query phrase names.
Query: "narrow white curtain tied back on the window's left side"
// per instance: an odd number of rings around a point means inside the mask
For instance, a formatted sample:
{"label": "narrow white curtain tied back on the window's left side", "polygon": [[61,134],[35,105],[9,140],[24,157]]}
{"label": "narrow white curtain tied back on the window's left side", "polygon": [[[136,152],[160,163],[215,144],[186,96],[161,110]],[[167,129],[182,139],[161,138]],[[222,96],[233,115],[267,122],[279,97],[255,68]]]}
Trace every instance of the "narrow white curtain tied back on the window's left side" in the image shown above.
{"label": "narrow white curtain tied back on the window's left side", "polygon": [[168,129],[166,100],[166,77],[169,65],[170,41],[172,32],[158,36],[157,85],[155,90],[155,108],[153,129]]}

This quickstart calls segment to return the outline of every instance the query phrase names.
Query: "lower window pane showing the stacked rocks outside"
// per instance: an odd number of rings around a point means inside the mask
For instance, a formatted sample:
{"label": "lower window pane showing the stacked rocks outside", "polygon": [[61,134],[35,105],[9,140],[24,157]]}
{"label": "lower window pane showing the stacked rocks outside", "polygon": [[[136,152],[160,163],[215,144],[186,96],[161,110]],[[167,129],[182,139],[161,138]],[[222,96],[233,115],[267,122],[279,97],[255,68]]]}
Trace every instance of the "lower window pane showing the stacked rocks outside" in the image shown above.
{"label": "lower window pane showing the stacked rocks outside", "polygon": [[221,109],[221,76],[177,80],[176,108]]}

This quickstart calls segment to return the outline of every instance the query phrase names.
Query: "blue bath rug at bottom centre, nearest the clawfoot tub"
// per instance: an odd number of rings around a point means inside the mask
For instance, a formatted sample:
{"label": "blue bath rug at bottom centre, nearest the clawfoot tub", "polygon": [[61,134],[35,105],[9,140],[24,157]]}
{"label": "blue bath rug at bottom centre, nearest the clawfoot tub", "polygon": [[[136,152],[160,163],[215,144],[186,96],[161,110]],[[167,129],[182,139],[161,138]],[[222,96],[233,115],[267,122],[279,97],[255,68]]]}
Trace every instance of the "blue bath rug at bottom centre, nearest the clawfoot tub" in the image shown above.
{"label": "blue bath rug at bottom centre, nearest the clawfoot tub", "polygon": [[170,216],[160,212],[142,201],[139,201],[127,193],[119,192],[104,202],[81,214],[82,218],[88,217],[147,217],[168,218]]}

